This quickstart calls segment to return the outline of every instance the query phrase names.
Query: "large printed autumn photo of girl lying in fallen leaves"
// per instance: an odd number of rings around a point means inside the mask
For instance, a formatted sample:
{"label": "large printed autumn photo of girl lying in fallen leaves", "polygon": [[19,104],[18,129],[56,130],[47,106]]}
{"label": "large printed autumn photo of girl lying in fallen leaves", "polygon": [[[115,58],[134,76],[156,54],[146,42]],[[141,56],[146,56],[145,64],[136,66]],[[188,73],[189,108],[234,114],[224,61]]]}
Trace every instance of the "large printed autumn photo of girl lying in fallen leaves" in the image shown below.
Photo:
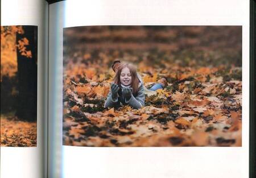
{"label": "large printed autumn photo of girl lying in fallen leaves", "polygon": [[63,30],[63,145],[242,146],[242,26]]}

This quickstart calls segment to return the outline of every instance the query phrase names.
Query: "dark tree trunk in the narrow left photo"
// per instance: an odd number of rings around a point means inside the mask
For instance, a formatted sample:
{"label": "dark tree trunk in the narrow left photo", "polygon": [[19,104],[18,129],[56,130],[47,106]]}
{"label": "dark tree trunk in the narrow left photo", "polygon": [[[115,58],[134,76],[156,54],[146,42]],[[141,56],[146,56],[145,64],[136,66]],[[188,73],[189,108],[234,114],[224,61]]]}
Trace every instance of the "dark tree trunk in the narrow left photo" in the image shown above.
{"label": "dark tree trunk in the narrow left photo", "polygon": [[37,42],[38,30],[34,26],[23,26],[24,34],[16,34],[16,44],[19,40],[27,38],[29,45],[27,51],[31,50],[32,58],[20,54],[17,48],[18,60],[18,102],[16,116],[27,121],[36,121],[37,116]]}

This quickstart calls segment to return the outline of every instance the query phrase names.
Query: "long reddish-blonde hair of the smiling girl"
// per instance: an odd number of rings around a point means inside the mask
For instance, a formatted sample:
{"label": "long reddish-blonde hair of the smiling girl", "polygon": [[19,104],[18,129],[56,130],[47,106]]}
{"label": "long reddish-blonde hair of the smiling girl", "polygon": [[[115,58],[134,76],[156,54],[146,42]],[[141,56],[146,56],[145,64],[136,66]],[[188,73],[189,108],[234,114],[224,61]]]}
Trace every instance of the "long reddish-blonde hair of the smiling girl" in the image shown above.
{"label": "long reddish-blonde hair of the smiling girl", "polygon": [[137,93],[139,90],[139,78],[137,75],[136,68],[132,64],[120,64],[117,68],[117,72],[115,73],[114,83],[119,87],[121,86],[120,75],[123,68],[128,68],[131,73],[131,88],[133,88],[133,94]]}

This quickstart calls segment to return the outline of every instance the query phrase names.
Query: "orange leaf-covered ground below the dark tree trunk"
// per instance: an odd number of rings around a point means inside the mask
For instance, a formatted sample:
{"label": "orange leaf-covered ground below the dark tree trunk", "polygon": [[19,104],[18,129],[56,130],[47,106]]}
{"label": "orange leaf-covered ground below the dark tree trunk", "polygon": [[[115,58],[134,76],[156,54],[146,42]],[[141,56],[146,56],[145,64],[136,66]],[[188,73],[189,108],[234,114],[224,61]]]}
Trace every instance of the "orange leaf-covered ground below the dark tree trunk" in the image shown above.
{"label": "orange leaf-covered ground below the dark tree trunk", "polygon": [[36,122],[1,115],[1,147],[36,147]]}

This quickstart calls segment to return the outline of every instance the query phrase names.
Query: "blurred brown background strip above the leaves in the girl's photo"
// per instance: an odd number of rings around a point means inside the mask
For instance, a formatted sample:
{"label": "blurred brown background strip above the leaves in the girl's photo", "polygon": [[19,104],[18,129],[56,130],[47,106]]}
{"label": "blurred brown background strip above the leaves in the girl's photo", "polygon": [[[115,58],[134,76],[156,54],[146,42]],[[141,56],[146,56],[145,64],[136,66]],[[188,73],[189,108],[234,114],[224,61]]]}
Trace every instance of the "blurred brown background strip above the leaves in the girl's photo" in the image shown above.
{"label": "blurred brown background strip above the leaves in the girl's photo", "polygon": [[164,60],[183,66],[241,67],[241,42],[241,26],[71,27],[64,30],[64,67],[70,57],[86,63],[86,58],[102,62],[104,55],[108,60],[102,66],[119,57],[156,65]]}

